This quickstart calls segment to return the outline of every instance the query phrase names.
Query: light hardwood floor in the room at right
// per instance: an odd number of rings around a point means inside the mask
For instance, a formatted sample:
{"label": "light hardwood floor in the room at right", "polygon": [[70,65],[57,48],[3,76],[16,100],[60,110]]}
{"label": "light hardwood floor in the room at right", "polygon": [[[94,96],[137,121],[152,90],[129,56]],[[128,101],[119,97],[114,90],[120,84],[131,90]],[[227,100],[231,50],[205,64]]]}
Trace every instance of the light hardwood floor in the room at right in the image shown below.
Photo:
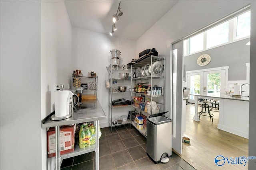
{"label": "light hardwood floor in the room at right", "polygon": [[[201,108],[198,107],[198,111]],[[213,109],[213,122],[210,117],[201,116],[200,121],[193,121],[195,106],[186,105],[186,132],[184,136],[190,138],[190,143],[184,143],[182,157],[197,170],[245,170],[248,164],[228,164],[217,166],[214,163],[216,156],[225,158],[248,156],[248,139],[217,129],[219,112]],[[248,126],[248,125],[246,125]],[[247,162],[248,163],[248,162]]]}

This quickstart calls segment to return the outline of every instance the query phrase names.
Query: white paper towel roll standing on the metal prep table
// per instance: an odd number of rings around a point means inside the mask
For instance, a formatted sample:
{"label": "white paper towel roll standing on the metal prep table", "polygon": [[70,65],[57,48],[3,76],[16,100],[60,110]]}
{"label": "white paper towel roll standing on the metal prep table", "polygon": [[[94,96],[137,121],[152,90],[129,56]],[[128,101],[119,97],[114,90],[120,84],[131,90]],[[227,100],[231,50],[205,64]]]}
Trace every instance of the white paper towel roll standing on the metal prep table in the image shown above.
{"label": "white paper towel roll standing on the metal prep table", "polygon": [[56,117],[63,117],[69,114],[69,100],[68,96],[70,91],[63,90],[63,91],[56,91],[54,93],[54,104],[55,104],[55,116]]}

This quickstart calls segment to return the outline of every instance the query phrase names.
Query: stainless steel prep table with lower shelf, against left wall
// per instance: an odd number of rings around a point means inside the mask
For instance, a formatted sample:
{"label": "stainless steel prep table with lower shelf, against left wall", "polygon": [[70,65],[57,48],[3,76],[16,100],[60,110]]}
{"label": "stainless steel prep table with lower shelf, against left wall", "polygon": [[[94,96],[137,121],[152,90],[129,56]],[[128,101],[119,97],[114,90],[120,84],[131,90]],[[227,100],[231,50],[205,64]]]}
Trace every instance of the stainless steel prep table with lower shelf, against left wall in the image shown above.
{"label": "stainless steel prep table with lower shelf, against left wall", "polygon": [[68,119],[52,121],[50,119],[52,112],[46,118],[42,120],[42,128],[55,127],[55,139],[56,139],[56,170],[60,170],[60,165],[63,159],[70,158],[73,156],[78,156],[80,154],[85,154],[88,152],[95,151],[95,166],[96,170],[99,170],[99,136],[96,133],[96,143],[90,147],[85,147],[80,149],[78,145],[75,145],[74,152],[63,154],[60,156],[60,126],[61,125],[70,125],[74,123],[84,123],[95,121],[96,132],[98,132],[99,120],[106,119],[106,115],[100,106],[98,100],[82,100],[80,107],[76,108],[72,112],[72,116]]}

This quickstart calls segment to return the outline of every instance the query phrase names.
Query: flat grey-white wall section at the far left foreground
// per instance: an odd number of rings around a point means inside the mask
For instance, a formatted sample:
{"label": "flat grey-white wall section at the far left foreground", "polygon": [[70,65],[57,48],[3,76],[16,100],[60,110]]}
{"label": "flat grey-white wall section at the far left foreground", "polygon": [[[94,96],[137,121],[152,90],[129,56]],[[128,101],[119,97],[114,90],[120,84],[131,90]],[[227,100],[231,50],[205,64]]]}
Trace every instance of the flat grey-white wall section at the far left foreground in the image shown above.
{"label": "flat grey-white wall section at the far left foreground", "polygon": [[0,1],[0,169],[39,170],[41,2]]}

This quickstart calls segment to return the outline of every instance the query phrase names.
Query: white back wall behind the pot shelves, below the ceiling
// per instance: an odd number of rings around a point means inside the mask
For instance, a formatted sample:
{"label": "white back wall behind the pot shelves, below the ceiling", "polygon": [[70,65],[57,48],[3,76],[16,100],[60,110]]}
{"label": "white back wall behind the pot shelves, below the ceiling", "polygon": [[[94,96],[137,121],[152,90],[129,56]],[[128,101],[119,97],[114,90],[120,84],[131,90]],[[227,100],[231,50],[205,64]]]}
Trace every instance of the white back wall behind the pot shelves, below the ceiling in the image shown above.
{"label": "white back wall behind the pot shelves, below the ceiling", "polygon": [[[105,80],[108,80],[108,72],[106,66],[109,65],[108,57],[112,49],[121,51],[120,57],[123,59],[123,64],[128,64],[132,59],[138,58],[135,54],[135,41],[72,27],[72,68],[73,70],[80,69],[84,75],[91,70],[97,73],[97,98],[107,117],[108,89],[105,88]],[[100,126],[108,127],[108,119],[100,121]]]}

